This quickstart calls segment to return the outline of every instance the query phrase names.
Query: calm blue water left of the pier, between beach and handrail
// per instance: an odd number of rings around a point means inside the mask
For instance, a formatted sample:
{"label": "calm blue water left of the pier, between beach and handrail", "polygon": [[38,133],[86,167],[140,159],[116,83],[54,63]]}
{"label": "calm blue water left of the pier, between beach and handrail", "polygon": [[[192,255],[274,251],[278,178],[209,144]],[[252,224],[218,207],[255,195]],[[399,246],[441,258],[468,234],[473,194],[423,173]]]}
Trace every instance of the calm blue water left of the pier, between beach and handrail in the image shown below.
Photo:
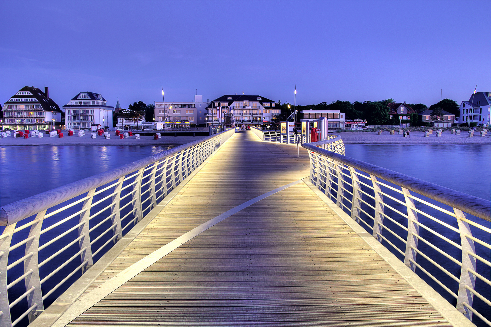
{"label": "calm blue water left of the pier, between beach and handrail", "polygon": [[0,147],[0,205],[103,173],[173,147]]}

